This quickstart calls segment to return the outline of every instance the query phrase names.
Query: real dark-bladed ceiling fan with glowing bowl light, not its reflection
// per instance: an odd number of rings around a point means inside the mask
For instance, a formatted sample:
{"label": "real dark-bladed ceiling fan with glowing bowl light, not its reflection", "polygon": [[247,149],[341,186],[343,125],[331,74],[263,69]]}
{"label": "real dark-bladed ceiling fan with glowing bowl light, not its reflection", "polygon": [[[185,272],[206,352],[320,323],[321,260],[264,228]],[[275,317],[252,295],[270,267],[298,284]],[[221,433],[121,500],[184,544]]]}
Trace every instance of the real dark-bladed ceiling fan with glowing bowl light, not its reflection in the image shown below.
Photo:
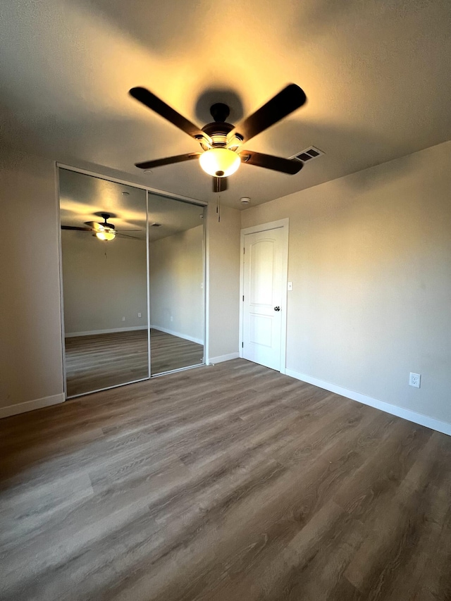
{"label": "real dark-bladed ceiling fan with glowing bowl light, not its reflection", "polygon": [[218,102],[210,108],[214,121],[207,123],[202,129],[144,87],[132,87],[129,93],[133,98],[197,140],[203,151],[135,163],[135,166],[140,169],[152,169],[162,165],[199,159],[202,169],[213,177],[214,192],[227,190],[227,178],[237,171],[240,163],[248,163],[290,175],[295,175],[302,169],[303,163],[297,159],[283,159],[280,156],[241,149],[244,142],[248,142],[252,137],[305,104],[307,97],[304,91],[294,83],[285,87],[238,125],[226,123],[230,109],[227,104]]}

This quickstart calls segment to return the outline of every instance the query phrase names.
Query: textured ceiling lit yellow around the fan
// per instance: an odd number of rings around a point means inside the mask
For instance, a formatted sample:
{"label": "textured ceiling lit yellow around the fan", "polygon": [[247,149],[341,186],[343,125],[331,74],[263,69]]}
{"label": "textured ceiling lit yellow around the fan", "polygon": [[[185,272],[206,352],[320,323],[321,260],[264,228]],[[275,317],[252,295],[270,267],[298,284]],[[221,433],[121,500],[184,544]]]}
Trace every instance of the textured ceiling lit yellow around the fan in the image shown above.
{"label": "textured ceiling lit yellow around the fan", "polygon": [[2,147],[211,201],[197,150],[128,96],[148,87],[194,123],[214,101],[229,120],[289,82],[307,105],[247,146],[326,154],[297,175],[242,165],[221,202],[241,208],[451,138],[450,0],[3,0]]}

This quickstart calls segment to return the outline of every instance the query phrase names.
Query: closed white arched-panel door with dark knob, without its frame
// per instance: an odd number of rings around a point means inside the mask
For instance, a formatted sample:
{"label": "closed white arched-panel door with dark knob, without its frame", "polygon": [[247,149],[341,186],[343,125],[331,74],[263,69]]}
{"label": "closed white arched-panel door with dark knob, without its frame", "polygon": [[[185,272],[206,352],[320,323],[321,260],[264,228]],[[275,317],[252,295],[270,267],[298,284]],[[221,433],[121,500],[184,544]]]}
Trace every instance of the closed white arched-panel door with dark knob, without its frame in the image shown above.
{"label": "closed white arched-panel door with dark knob, without its frame", "polygon": [[280,371],[283,229],[245,235],[242,356]]}

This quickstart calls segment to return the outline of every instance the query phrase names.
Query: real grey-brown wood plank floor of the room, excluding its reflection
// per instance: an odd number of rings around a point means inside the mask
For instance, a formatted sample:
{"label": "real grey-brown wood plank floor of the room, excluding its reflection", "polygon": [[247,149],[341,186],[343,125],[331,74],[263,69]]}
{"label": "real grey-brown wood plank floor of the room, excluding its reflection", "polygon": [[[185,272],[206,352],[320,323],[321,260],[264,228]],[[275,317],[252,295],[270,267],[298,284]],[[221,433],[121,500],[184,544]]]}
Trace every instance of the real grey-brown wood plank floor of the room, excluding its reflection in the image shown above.
{"label": "real grey-brown wood plank floor of the room, excluding its reflection", "polygon": [[0,421],[2,601],[451,599],[451,438],[242,359]]}

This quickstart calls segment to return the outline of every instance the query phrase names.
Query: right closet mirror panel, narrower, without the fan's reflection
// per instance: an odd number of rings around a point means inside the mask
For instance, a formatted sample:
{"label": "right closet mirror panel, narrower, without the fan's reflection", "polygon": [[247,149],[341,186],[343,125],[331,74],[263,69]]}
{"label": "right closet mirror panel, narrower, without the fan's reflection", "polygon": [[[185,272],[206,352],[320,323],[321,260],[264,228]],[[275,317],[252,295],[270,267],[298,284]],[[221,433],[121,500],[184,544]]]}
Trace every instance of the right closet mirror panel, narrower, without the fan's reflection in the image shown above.
{"label": "right closet mirror panel, narrower, without the fan's reflection", "polygon": [[152,376],[204,363],[204,207],[148,194]]}

